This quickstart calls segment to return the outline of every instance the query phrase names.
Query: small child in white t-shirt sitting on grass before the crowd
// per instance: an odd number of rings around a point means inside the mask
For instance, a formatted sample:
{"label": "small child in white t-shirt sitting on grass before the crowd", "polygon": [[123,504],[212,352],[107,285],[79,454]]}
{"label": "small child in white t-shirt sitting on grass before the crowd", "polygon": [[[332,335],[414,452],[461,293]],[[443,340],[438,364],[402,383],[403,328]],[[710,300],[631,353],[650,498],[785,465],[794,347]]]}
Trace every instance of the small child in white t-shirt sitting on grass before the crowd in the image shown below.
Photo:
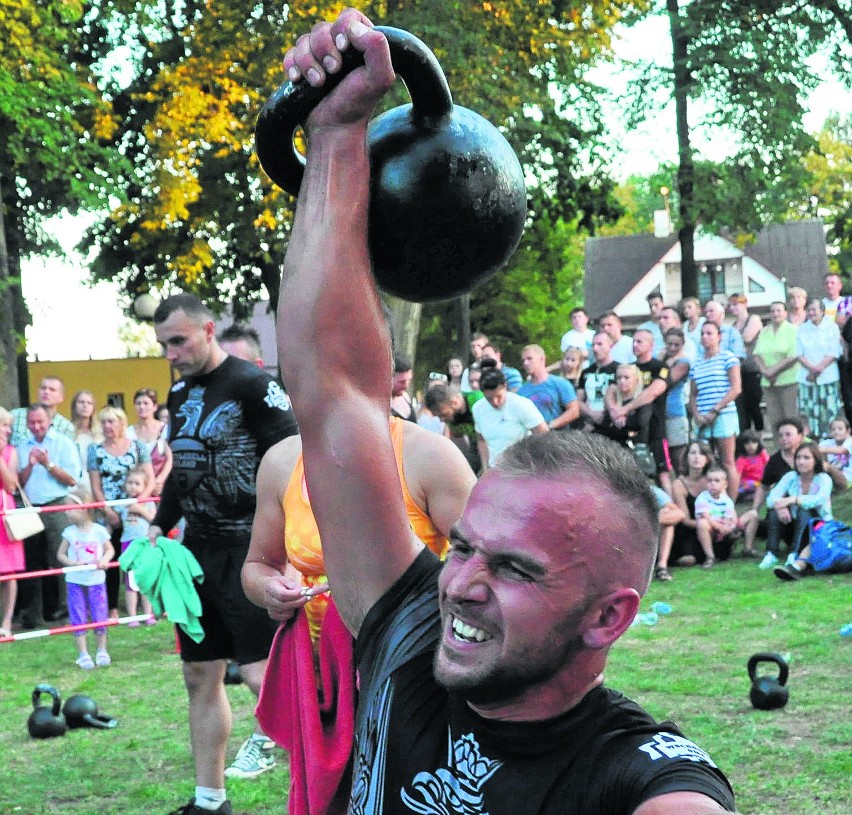
{"label": "small child in white t-shirt sitting on grass before the crowd", "polygon": [[731,556],[734,541],[745,535],[743,554],[757,557],[754,537],[757,533],[757,513],[750,509],[737,517],[734,502],[727,493],[728,475],[718,466],[707,470],[707,489],[695,499],[695,519],[698,521],[698,541],[704,551],[701,568],[711,568],[717,560]]}

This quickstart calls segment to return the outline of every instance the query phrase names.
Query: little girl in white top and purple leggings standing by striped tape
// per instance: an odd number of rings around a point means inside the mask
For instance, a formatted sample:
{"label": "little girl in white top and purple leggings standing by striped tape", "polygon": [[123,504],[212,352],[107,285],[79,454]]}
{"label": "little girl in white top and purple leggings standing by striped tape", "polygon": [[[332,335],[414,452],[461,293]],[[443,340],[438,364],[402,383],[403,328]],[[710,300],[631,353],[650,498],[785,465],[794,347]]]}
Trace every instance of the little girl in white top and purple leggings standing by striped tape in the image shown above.
{"label": "little girl in white top and purple leggings standing by striped tape", "polygon": [[[84,503],[91,503],[90,495],[81,496]],[[68,617],[71,625],[82,625],[91,621],[103,623],[107,620],[106,573],[113,556],[109,532],[96,524],[89,509],[70,509],[67,512],[71,525],[62,531],[57,560],[63,566],[79,566],[94,563],[96,569],[69,572],[65,575],[68,586]],[[106,626],[95,628],[97,651],[95,658],[89,654],[85,631],[75,631],[77,641],[77,664],[90,671],[95,665],[106,667],[112,660],[106,649]]]}

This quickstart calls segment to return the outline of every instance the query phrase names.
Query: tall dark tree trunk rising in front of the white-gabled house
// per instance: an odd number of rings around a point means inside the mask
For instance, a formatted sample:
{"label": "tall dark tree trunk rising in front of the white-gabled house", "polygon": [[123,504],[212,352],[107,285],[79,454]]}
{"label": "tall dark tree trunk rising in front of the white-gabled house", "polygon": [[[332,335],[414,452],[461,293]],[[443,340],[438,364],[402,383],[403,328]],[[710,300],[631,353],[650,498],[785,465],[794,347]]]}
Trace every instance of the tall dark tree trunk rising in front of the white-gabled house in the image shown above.
{"label": "tall dark tree trunk rising in front of the white-gabled house", "polygon": [[698,273],[695,268],[695,167],[692,161],[692,148],[689,144],[689,121],[687,104],[689,100],[690,76],[687,68],[687,40],[683,21],[678,9],[678,0],[666,0],[669,24],[672,31],[672,55],[674,58],[674,99],[675,122],[678,146],[678,212],[680,214],[680,281],[682,297],[698,296]]}

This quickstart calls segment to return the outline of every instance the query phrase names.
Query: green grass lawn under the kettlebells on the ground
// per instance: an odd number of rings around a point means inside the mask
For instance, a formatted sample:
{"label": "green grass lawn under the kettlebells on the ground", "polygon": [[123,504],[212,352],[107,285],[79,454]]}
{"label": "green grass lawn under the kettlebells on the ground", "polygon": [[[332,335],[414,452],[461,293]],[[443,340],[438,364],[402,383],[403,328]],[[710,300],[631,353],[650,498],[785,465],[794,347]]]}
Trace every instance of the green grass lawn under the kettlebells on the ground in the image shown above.
{"label": "green grass lawn under the kettlebells on the ground", "polygon": [[[850,490],[852,493],[852,490]],[[835,502],[852,518],[852,495]],[[758,542],[761,545],[761,542]],[[607,682],[658,718],[676,721],[729,775],[749,815],[852,812],[852,575],[781,583],[754,562],[675,570],[655,583],[643,610],[673,612],[632,628],[612,651]],[[0,815],[162,815],[192,793],[186,696],[169,626],[112,629],[110,668],[82,672],[68,636],[0,645]],[[790,660],[790,702],[754,710],[746,662],[757,651]],[[88,693],[119,719],[114,731],[30,739],[30,694],[50,682],[67,698]],[[229,758],[251,732],[253,699],[229,687]],[[253,781],[229,782],[235,811],[281,815],[286,758]]]}

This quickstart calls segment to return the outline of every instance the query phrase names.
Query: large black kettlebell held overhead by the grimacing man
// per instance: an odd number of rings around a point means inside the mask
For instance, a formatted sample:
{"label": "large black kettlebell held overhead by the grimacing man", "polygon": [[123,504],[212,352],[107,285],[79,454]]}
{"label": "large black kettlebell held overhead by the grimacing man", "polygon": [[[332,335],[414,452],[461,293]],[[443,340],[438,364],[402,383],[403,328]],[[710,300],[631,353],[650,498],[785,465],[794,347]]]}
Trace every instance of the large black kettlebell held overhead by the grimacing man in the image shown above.
{"label": "large black kettlebell held overhead by the grimacing man", "polygon": [[[370,123],[369,246],[376,283],[425,302],[470,291],[500,269],[520,242],[527,214],[524,173],[494,125],[453,105],[437,58],[417,37],[377,26],[411,104]],[[293,136],[310,112],[364,64],[350,47],[320,88],[285,83],[260,112],[257,155],[269,177],[296,195],[304,159]]]}

